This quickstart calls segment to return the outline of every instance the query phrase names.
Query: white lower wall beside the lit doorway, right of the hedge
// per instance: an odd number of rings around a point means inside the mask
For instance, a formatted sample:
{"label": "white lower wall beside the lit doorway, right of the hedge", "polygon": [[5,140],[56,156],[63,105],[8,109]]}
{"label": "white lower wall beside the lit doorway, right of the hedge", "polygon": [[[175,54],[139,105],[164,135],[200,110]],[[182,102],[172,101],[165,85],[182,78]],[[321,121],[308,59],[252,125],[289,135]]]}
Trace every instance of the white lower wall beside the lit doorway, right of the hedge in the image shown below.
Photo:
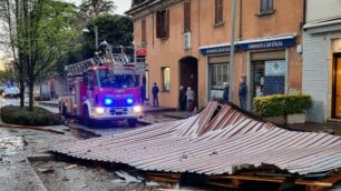
{"label": "white lower wall beside the lit doorway, right of the hedge", "polygon": [[328,118],[329,40],[325,34],[303,34],[302,90],[313,100],[308,120],[324,122]]}

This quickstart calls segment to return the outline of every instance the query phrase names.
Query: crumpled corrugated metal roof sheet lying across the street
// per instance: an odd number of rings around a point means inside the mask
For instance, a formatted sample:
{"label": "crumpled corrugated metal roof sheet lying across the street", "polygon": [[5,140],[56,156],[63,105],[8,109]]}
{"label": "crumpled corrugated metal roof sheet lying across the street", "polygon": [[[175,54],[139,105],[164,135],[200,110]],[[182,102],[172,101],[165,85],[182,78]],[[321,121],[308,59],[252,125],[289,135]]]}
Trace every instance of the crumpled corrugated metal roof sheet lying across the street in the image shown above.
{"label": "crumpled corrugated metal roof sheet lying across the street", "polygon": [[241,164],[272,164],[308,174],[341,168],[341,138],[295,132],[254,120],[230,105],[211,102],[195,117],[137,130],[62,143],[52,151],[125,163],[146,171],[233,173]]}

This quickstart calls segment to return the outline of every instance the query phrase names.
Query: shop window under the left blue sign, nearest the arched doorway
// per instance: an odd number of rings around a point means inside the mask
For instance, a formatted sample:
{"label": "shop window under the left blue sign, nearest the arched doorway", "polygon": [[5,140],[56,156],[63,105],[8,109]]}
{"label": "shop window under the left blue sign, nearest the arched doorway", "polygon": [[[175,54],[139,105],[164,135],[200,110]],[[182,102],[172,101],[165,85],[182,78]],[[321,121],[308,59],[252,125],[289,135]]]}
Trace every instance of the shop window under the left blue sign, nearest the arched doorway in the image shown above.
{"label": "shop window under the left blue sign, nearest the arched doorway", "polygon": [[222,99],[224,83],[228,82],[228,64],[210,64],[210,97],[212,99]]}

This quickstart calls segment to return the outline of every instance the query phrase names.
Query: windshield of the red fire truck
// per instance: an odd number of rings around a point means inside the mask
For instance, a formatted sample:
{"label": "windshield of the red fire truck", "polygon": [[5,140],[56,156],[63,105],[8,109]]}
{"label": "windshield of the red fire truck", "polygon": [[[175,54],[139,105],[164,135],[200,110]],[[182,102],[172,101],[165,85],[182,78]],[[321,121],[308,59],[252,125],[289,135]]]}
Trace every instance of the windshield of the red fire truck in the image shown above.
{"label": "windshield of the red fire truck", "polygon": [[97,70],[101,88],[135,88],[138,87],[138,77],[134,74],[114,74],[108,70]]}

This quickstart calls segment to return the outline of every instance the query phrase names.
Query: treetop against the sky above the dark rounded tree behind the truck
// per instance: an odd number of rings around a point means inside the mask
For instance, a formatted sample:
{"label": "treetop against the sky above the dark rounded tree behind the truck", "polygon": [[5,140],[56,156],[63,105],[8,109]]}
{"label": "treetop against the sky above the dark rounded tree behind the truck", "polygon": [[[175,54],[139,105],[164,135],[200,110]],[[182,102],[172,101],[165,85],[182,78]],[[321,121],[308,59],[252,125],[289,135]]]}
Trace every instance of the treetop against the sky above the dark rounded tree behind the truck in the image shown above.
{"label": "treetop against the sky above the dark rounded tree behind the truck", "polygon": [[115,3],[111,0],[82,0],[80,4],[80,11],[87,18],[95,18],[103,13],[111,13],[115,8]]}

